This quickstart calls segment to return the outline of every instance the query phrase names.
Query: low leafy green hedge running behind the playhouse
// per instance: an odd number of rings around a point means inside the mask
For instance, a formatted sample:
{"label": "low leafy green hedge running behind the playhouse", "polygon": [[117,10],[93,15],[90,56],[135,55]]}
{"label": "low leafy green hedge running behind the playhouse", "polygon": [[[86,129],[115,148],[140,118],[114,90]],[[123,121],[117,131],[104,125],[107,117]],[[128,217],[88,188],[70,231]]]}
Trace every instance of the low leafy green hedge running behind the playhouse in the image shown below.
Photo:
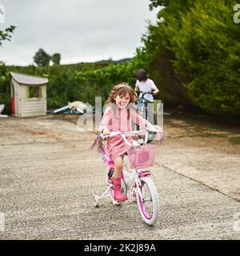
{"label": "low leafy green hedge running behind the playhouse", "polygon": [[[138,50],[140,54],[140,50]],[[102,64],[101,64],[102,65]],[[135,70],[144,65],[143,60],[133,58],[120,64],[79,66],[5,66],[0,65],[0,102],[6,105],[10,114],[10,71],[46,77],[47,108],[65,106],[67,102],[82,101],[94,104],[95,96],[102,96],[102,102],[110,94],[113,86],[120,82],[129,82],[134,87]],[[100,66],[100,67],[99,67]]]}

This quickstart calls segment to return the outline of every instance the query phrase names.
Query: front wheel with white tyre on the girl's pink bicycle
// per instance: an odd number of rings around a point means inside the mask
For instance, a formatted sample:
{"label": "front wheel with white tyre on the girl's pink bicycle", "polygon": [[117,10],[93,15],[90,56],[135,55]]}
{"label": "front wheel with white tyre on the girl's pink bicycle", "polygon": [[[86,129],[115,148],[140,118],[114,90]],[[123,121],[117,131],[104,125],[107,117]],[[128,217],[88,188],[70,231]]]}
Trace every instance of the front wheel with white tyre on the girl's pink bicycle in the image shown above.
{"label": "front wheel with white tyre on the girl's pink bicycle", "polygon": [[150,177],[142,177],[140,181],[142,198],[137,194],[138,209],[143,221],[153,226],[158,219],[158,191]]}

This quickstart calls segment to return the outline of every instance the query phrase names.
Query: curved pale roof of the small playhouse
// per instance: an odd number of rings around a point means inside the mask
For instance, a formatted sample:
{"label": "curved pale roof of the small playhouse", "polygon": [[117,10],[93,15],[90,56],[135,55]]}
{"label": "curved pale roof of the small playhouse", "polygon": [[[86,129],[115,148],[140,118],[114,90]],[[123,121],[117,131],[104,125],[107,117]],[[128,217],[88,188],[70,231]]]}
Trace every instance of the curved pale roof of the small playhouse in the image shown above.
{"label": "curved pale roof of the small playhouse", "polygon": [[29,74],[18,74],[14,72],[10,72],[10,74],[14,80],[22,85],[40,86],[48,82],[47,78],[39,78]]}

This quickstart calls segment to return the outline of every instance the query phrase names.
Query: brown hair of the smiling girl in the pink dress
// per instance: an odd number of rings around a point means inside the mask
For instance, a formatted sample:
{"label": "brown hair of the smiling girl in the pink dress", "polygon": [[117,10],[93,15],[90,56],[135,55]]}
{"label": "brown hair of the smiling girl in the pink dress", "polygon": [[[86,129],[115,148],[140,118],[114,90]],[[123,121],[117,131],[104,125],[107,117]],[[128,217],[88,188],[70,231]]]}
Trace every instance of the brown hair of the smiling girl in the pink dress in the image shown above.
{"label": "brown hair of the smiling girl in the pink dress", "polygon": [[106,103],[111,105],[113,111],[114,111],[114,116],[115,118],[117,117],[117,106],[115,99],[117,96],[126,96],[128,95],[130,97],[130,101],[128,103],[128,108],[127,108],[127,118],[130,118],[130,110],[136,110],[135,108],[135,101],[136,101],[136,94],[134,90],[130,87],[128,83],[119,83],[118,85],[114,86],[114,89],[111,90],[109,97],[106,100]]}

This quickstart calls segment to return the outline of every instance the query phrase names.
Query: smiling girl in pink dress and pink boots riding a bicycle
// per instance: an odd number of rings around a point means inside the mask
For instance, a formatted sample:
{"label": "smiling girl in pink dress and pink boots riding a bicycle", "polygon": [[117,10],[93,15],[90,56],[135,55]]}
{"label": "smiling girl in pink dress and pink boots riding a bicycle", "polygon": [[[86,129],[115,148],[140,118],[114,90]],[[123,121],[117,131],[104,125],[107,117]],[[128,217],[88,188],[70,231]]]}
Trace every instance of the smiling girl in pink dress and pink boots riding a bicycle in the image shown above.
{"label": "smiling girl in pink dress and pink boots riding a bicycle", "polygon": [[[114,90],[111,91],[109,98],[106,100],[107,106],[102,122],[99,126],[99,131],[103,135],[110,134],[110,131],[129,131],[132,130],[131,121],[133,120],[138,126],[142,126],[143,129],[152,128],[150,122],[143,119],[135,110],[135,92],[126,83],[118,84],[114,86]],[[127,138],[129,142],[132,142],[132,138]],[[123,154],[130,146],[126,145],[121,136],[107,138],[107,150],[110,154],[110,158],[114,161],[114,174],[112,176],[112,182],[114,186],[114,199],[117,202],[127,200],[125,194],[121,192],[121,175],[123,168]]]}

